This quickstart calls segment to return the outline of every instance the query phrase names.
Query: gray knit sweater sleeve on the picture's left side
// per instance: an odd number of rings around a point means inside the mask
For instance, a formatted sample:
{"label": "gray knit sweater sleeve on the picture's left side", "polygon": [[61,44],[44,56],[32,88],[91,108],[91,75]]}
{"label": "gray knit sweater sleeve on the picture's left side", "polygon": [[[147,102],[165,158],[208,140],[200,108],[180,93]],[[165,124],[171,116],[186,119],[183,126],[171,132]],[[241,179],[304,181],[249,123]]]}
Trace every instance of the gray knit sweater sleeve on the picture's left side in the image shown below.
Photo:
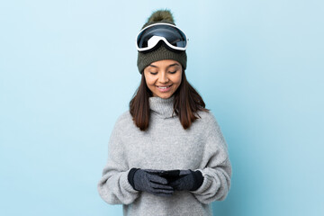
{"label": "gray knit sweater sleeve on the picture's left side", "polygon": [[139,192],[132,188],[127,178],[130,168],[124,157],[125,152],[121,141],[122,127],[119,120],[115,123],[109,139],[108,160],[97,189],[104,202],[130,204],[139,196]]}

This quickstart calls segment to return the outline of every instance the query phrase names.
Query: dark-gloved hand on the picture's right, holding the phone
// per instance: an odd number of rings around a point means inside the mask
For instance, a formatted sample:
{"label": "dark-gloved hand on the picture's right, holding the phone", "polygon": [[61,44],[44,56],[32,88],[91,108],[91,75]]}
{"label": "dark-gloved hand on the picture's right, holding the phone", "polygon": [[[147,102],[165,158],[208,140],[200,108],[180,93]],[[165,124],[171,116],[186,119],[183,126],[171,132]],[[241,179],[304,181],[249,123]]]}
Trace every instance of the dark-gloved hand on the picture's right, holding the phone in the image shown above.
{"label": "dark-gloved hand on the picture's right, holding the phone", "polygon": [[168,185],[172,186],[175,191],[195,191],[202,185],[202,182],[201,171],[188,169],[180,170],[179,177]]}

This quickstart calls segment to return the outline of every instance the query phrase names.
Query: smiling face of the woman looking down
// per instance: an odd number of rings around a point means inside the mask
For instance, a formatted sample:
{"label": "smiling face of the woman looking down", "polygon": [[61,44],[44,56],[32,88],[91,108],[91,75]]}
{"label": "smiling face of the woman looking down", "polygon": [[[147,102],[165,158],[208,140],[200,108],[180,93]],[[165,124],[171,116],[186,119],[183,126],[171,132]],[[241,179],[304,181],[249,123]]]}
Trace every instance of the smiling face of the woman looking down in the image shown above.
{"label": "smiling face of the woman looking down", "polygon": [[169,98],[181,84],[182,66],[171,59],[155,61],[144,68],[144,76],[153,96]]}

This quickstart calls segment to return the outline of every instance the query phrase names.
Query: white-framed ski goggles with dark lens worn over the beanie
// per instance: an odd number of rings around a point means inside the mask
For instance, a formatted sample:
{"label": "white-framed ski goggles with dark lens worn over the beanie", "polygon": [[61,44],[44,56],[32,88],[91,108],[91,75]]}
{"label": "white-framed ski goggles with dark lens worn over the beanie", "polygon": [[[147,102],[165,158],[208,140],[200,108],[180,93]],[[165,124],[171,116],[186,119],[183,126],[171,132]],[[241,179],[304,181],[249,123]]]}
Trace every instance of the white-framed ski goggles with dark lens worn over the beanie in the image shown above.
{"label": "white-framed ski goggles with dark lens worn over the beanie", "polygon": [[161,40],[169,48],[175,50],[184,51],[188,45],[188,39],[184,31],[181,31],[173,24],[155,23],[139,31],[136,37],[136,48],[139,51],[148,51],[157,46],[157,43]]}

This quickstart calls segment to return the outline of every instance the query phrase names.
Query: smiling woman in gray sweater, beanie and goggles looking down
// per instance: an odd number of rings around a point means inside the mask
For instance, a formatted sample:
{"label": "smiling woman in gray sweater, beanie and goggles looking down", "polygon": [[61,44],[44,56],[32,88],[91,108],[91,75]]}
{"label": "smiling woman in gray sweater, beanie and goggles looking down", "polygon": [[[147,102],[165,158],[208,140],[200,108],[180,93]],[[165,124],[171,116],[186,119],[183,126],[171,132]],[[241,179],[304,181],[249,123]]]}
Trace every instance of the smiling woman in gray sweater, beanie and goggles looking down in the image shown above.
{"label": "smiling woman in gray sweater, beanie and goggles looking down", "polygon": [[98,192],[124,215],[211,215],[229,193],[220,127],[186,80],[187,39],[157,11],[137,38],[139,88],[116,121]]}

